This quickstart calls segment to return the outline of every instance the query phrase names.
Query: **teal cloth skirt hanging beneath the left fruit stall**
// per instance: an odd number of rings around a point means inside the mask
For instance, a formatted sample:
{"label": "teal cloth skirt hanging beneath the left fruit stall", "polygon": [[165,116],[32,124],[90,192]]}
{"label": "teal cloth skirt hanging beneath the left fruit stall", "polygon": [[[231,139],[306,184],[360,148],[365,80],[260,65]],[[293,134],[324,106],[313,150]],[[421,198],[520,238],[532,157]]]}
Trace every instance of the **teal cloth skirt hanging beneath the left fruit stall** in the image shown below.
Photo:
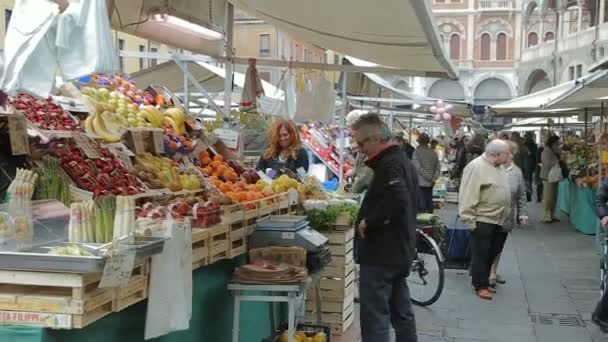
{"label": "teal cloth skirt hanging beneath the left fruit stall", "polygon": [[[199,268],[193,274],[192,319],[190,329],[150,341],[231,341],[233,306],[226,290],[234,268],[244,257],[223,260]],[[241,342],[260,341],[271,334],[267,303],[243,303],[240,307]],[[19,342],[131,342],[144,340],[146,302],[110,314],[83,328],[52,330],[25,326],[0,326],[0,341]]]}

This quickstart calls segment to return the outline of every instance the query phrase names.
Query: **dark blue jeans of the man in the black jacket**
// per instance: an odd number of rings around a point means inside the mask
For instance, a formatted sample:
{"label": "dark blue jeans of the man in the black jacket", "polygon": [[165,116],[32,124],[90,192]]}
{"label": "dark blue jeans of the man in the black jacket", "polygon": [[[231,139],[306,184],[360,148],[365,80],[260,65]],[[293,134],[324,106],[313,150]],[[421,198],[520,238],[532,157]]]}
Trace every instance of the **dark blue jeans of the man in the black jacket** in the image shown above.
{"label": "dark blue jeans of the man in the black jacket", "polygon": [[416,342],[416,319],[406,278],[409,268],[361,264],[359,300],[362,342]]}

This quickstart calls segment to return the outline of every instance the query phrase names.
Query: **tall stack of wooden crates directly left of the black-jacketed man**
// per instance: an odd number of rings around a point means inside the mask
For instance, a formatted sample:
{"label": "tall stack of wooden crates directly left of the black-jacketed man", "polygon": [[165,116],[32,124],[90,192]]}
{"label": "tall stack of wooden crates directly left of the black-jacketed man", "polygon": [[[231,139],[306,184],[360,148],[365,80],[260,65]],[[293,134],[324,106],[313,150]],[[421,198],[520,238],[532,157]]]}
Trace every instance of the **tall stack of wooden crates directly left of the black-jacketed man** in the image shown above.
{"label": "tall stack of wooden crates directly left of the black-jacketed man", "polygon": [[[331,263],[325,267],[320,280],[321,322],[331,326],[332,334],[341,335],[354,320],[355,261],[354,233],[350,226],[336,227],[325,233],[329,239]],[[306,321],[317,323],[315,294],[309,290],[306,301]]]}

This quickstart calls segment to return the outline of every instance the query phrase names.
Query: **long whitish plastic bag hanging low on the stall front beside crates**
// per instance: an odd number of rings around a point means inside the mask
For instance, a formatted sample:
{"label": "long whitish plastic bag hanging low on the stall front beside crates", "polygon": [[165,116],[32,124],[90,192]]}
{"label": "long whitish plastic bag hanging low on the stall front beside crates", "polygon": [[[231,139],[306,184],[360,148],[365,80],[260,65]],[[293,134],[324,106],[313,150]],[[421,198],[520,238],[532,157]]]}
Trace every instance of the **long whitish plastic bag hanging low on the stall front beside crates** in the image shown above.
{"label": "long whitish plastic bag hanging low on the stall front beside crates", "polygon": [[164,222],[165,248],[152,257],[145,339],[190,328],[192,317],[192,230]]}

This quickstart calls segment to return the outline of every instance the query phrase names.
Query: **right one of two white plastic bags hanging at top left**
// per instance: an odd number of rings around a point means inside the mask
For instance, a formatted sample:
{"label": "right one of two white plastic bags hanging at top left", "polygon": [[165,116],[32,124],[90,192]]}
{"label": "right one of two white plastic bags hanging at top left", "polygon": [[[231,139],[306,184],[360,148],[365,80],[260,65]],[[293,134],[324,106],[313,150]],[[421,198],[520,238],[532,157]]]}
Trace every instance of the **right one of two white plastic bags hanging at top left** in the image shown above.
{"label": "right one of two white plastic bags hanging at top left", "polygon": [[118,70],[105,0],[72,0],[59,16],[55,44],[64,80]]}

